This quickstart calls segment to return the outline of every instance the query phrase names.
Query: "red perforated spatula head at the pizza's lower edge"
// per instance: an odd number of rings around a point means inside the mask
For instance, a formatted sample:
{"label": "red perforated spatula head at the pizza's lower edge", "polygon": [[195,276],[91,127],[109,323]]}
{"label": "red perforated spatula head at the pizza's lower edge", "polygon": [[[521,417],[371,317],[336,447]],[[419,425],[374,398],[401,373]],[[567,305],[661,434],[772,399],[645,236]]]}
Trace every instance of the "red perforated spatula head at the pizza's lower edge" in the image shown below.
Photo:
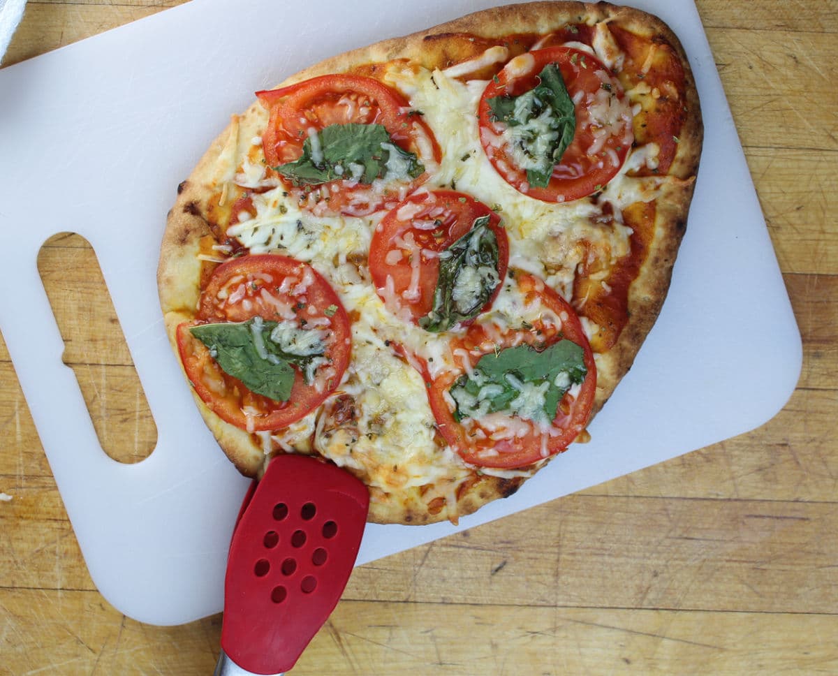
{"label": "red perforated spatula head at the pizza's lower edge", "polygon": [[215,676],[292,668],[344,591],[364,534],[363,483],[283,455],[245,497],[230,543]]}

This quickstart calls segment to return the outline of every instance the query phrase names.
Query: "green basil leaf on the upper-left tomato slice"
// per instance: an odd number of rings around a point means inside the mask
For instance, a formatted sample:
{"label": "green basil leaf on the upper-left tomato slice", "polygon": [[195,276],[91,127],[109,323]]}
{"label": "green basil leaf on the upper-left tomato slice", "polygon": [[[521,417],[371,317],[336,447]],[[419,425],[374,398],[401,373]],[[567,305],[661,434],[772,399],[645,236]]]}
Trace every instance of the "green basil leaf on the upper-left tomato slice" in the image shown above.
{"label": "green basil leaf on the upper-left tomato slice", "polygon": [[398,147],[380,124],[334,124],[313,137],[303,142],[301,157],[274,169],[294,183],[307,185],[339,178],[370,184],[376,178],[416,178],[425,171],[416,153]]}

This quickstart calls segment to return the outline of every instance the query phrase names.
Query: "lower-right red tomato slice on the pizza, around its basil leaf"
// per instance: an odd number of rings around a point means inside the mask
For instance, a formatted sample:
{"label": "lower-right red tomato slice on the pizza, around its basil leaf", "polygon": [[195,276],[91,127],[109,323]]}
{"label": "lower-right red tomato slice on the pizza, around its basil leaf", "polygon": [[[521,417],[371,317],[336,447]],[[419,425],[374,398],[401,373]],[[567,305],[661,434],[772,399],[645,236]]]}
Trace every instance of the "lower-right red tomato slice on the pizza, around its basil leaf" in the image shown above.
{"label": "lower-right red tomato slice on the pizza, around its basil leaf", "polygon": [[[480,323],[468,328],[465,337],[455,341],[453,353],[459,357],[462,370],[447,371],[432,379],[427,369],[420,369],[428,383],[428,400],[436,418],[440,434],[463,460],[479,467],[527,467],[564,451],[587,425],[597,390],[597,369],[582,324],[567,302],[538,277],[516,271],[520,291],[527,304],[541,302],[561,324],[539,320],[531,329],[510,329],[498,340],[497,333],[487,331]],[[549,347],[561,340],[569,340],[582,348],[587,375],[578,388],[572,388],[561,399],[556,417],[548,429],[518,416],[507,416],[499,421],[498,414],[489,427],[484,419],[458,422],[454,417],[449,390],[468,369],[472,369],[484,355],[522,343],[537,349]],[[542,347],[543,346],[543,347]],[[468,354],[468,369],[462,356]]]}

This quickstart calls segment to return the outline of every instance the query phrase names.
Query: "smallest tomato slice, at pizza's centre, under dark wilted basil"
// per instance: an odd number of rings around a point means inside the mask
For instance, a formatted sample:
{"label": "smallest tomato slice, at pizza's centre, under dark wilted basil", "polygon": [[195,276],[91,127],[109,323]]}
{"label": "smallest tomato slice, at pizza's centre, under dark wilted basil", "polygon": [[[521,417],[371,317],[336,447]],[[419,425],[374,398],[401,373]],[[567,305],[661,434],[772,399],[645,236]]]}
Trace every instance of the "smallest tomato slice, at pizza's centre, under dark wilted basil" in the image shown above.
{"label": "smallest tomato slice, at pizza's centre, under dark wilted basil", "polygon": [[480,312],[492,306],[509,266],[510,244],[499,215],[453,190],[422,190],[385,214],[370,242],[370,275],[391,312],[414,323],[431,312],[440,271],[438,254],[484,216],[489,217],[498,243],[498,282]]}

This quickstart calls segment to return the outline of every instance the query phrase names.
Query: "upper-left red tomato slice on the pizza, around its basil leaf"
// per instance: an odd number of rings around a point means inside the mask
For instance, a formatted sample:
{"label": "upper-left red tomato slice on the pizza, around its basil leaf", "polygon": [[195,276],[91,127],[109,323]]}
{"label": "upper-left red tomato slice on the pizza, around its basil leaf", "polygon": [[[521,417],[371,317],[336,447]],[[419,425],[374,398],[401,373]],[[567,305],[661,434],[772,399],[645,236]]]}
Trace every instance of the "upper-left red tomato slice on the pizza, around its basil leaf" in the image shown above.
{"label": "upper-left red tomato slice on the pizza, around its basil leaf", "polygon": [[304,206],[323,214],[366,215],[388,202],[404,199],[427,180],[429,169],[442,157],[422,117],[411,110],[404,96],[379,80],[362,75],[321,75],[256,95],[270,111],[262,135],[262,149],[270,167],[297,160],[312,131],[357,123],[384,126],[392,141],[402,150],[415,153],[426,168],[412,180],[390,182],[385,191],[351,179],[332,181],[324,187],[299,188],[280,177]]}

